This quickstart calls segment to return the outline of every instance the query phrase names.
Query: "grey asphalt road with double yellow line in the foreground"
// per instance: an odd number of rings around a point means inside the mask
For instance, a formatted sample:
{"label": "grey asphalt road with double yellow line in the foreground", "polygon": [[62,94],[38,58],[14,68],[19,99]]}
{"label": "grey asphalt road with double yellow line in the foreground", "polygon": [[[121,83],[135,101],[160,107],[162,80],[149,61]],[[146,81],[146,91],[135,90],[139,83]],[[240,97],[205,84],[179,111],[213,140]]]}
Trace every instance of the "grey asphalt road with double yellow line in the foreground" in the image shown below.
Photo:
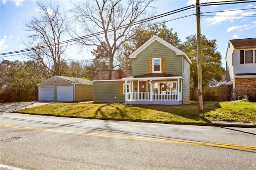
{"label": "grey asphalt road with double yellow line in the foreground", "polygon": [[[10,137],[24,139],[2,141]],[[256,128],[0,111],[0,140],[0,164],[24,169],[256,169]]]}

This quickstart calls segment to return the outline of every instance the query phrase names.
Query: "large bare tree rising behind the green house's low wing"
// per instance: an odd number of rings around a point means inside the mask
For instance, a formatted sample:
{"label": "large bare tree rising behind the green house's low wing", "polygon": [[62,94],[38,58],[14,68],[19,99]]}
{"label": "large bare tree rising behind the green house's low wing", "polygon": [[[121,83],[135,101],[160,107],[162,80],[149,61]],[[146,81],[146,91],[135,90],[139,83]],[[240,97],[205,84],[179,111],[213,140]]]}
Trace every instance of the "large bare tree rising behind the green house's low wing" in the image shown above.
{"label": "large bare tree rising behind the green house's low wing", "polygon": [[[112,70],[116,51],[134,37],[134,34],[129,34],[132,24],[153,14],[154,7],[150,6],[152,1],[87,0],[73,3],[74,21],[82,28],[79,28],[81,32],[74,31],[74,34],[77,37],[93,35],[79,42],[97,48],[104,47],[109,55],[109,69]],[[107,45],[104,46],[104,43]]]}

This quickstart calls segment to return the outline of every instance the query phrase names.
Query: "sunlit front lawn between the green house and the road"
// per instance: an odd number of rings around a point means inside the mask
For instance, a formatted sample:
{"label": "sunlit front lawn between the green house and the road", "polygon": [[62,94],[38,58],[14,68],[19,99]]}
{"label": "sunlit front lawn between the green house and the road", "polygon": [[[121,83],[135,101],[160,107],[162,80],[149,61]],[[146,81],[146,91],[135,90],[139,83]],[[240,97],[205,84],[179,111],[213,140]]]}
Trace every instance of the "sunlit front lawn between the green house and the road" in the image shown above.
{"label": "sunlit front lawn between the green house and the road", "polygon": [[53,103],[18,112],[195,124],[231,121],[256,125],[256,103],[251,102],[205,102],[202,118],[197,116],[197,103],[182,105]]}

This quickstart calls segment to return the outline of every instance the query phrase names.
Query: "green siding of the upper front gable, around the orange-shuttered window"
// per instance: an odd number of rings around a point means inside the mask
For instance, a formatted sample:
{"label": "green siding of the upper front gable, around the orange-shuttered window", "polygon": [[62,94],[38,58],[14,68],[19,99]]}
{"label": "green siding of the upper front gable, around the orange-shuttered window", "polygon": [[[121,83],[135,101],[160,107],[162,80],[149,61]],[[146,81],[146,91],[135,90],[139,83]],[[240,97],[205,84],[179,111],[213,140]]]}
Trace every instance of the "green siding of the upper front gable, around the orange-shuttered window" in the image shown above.
{"label": "green siding of the upper front gable, around the orange-shuttered window", "polygon": [[148,73],[148,58],[165,57],[165,73],[182,76],[182,57],[158,41],[154,41],[136,58],[132,58],[132,75]]}

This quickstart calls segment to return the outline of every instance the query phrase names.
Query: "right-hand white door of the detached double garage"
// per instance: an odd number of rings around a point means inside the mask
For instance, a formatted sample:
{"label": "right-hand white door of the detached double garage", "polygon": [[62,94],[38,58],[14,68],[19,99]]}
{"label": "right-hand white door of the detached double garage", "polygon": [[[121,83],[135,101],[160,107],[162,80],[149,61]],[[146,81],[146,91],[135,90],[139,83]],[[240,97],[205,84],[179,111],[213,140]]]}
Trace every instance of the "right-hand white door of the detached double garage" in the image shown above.
{"label": "right-hand white door of the detached double garage", "polygon": [[57,87],[58,101],[73,101],[73,86],[58,86]]}

